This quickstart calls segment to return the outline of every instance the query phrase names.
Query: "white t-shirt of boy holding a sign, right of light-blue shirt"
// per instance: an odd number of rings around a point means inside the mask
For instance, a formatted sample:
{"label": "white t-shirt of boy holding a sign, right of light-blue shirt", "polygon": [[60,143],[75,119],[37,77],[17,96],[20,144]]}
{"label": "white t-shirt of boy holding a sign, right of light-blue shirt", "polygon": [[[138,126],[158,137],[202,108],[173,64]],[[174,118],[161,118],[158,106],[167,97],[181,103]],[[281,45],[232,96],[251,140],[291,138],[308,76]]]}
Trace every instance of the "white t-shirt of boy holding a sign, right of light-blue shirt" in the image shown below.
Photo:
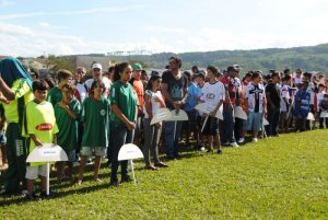
{"label": "white t-shirt of boy holding a sign, right of light-blue shirt", "polygon": [[[221,100],[225,100],[225,88],[220,81],[214,83],[206,82],[201,92],[200,100],[208,104],[208,109],[210,111],[213,111]],[[223,112],[223,105],[220,106],[219,111]]]}

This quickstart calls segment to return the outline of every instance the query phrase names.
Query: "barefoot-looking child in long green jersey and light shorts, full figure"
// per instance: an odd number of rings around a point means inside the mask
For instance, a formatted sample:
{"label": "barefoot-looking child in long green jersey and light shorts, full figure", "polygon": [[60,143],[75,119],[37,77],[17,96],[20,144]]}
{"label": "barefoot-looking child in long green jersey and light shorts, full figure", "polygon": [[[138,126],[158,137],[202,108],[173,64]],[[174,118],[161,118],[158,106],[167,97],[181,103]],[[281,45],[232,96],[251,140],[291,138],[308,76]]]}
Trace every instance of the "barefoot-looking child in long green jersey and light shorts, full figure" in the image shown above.
{"label": "barefoot-looking child in long green jersey and light shorts, full figure", "polygon": [[81,162],[79,170],[78,184],[80,185],[83,180],[83,173],[87,157],[94,152],[94,181],[102,182],[98,178],[102,158],[106,155],[108,146],[108,119],[110,113],[109,101],[103,96],[105,84],[101,80],[92,83],[90,89],[90,96],[83,102],[83,109],[81,120],[84,125],[81,148]]}

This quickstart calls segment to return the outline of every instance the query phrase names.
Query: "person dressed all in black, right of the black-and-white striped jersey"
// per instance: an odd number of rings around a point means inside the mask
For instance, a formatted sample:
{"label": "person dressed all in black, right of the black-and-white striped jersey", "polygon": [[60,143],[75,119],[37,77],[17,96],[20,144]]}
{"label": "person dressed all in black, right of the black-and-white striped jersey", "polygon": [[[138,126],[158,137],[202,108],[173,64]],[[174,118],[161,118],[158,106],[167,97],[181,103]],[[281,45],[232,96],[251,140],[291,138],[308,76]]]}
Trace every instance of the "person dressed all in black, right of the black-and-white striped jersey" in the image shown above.
{"label": "person dressed all in black, right of the black-and-white striped jersey", "polygon": [[267,109],[268,109],[268,121],[267,135],[268,136],[279,136],[278,135],[278,124],[280,118],[280,77],[278,72],[271,74],[271,82],[266,86],[267,96]]}

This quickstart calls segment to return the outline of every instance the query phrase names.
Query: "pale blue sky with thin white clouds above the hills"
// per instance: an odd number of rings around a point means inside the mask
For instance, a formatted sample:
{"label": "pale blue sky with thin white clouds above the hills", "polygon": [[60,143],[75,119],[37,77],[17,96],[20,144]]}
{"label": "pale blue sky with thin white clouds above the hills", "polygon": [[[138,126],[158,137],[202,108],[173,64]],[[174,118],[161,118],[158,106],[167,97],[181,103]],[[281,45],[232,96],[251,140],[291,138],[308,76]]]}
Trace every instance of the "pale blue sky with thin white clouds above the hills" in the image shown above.
{"label": "pale blue sky with thin white clouds above the hills", "polygon": [[208,51],[328,43],[326,0],[0,0],[0,55]]}

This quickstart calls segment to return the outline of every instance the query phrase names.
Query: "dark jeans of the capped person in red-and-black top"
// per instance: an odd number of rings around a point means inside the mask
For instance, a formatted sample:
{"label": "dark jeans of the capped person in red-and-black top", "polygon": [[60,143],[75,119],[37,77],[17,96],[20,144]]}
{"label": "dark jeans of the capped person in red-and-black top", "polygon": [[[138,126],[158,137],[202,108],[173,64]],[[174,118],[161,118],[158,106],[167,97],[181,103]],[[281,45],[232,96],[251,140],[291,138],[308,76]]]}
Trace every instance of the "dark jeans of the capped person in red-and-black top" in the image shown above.
{"label": "dark jeans of the capped person in red-and-black top", "polygon": [[234,127],[235,118],[233,116],[233,109],[230,109],[227,105],[223,105],[223,142],[236,142]]}

